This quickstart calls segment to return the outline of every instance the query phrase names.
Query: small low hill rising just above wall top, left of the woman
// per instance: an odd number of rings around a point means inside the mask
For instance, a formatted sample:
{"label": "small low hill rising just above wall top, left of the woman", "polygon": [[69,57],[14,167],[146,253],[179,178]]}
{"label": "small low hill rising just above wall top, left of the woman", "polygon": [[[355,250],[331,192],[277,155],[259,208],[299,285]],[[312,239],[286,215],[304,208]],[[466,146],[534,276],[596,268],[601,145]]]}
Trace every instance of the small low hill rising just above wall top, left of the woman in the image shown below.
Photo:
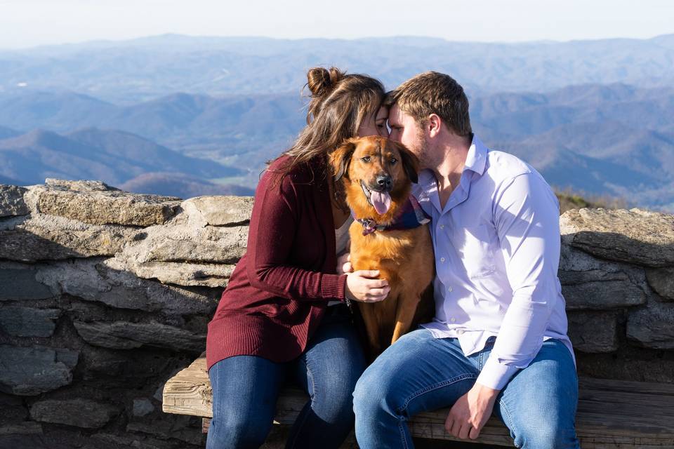
{"label": "small low hill rising just above wall top, left of the woman", "polygon": [[218,185],[184,173],[143,173],[117,186],[126,192],[178,196],[183,199],[202,195],[251,196],[254,190],[239,185]]}

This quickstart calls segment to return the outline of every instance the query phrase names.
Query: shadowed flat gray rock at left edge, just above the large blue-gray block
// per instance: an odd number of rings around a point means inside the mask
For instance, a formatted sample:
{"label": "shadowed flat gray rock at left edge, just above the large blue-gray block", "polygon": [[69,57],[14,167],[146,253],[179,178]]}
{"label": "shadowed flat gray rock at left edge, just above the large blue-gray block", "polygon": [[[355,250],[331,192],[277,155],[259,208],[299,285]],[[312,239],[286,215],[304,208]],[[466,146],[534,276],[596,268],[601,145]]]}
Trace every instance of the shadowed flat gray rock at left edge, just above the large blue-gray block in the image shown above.
{"label": "shadowed flat gray rock at left edge, just above the large blue-gray block", "polygon": [[2,307],[0,328],[15,337],[49,337],[54,333],[54,320],[59,309],[31,309],[30,307]]}

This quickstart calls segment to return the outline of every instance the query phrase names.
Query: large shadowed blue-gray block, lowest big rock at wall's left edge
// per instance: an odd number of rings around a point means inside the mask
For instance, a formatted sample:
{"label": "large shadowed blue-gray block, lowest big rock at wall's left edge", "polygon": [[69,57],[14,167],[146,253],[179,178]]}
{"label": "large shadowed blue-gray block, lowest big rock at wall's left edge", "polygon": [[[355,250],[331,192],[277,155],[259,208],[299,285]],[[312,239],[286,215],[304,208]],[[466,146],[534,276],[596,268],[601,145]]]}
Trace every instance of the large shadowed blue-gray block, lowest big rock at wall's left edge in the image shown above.
{"label": "large shadowed blue-gray block, lowest big rock at wall's left edge", "polygon": [[0,390],[36,396],[70,384],[77,351],[48,347],[0,346]]}

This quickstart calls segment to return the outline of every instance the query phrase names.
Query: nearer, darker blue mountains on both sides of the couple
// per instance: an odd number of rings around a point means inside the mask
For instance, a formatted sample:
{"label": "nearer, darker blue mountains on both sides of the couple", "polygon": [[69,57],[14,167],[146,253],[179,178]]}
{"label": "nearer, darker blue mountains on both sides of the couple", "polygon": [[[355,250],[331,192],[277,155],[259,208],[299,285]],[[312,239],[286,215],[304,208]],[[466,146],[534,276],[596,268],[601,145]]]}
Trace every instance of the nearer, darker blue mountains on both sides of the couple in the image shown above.
{"label": "nearer, darker blue mountains on both sides of the couple", "polygon": [[[29,113],[34,109],[31,100],[20,97],[0,95],[0,126],[30,129],[42,122],[62,133],[58,138],[33,136],[28,143],[27,135],[0,140],[0,175],[26,182],[43,182],[44,173],[58,171],[119,185],[159,172],[161,176],[138,180],[139,185],[152,187],[137,188],[164,189],[161,177],[180,172],[201,182],[253,189],[265,161],[291,145],[305,119],[299,93],[225,97],[176,93],[126,106],[71,93],[62,101],[72,100],[81,107],[71,106],[72,120],[58,102],[53,103],[51,116],[44,114],[38,120]],[[42,101],[54,96],[28,98]],[[473,95],[470,104],[473,129],[480,138],[491,148],[522,157],[550,184],[586,194],[624,196],[630,205],[674,211],[674,87],[588,84],[548,93]],[[98,128],[79,129],[85,123]],[[13,149],[26,149],[25,154],[19,152],[25,159],[8,159],[3,149],[7,142]],[[44,156],[55,145],[61,156]],[[28,156],[36,148],[43,156],[34,161]],[[75,156],[83,158],[81,163],[59,168],[59,157]],[[41,167],[44,160],[55,163]],[[30,177],[36,170],[38,177]],[[183,179],[180,185],[193,182]],[[184,189],[187,193],[173,194],[184,197],[194,191]]]}

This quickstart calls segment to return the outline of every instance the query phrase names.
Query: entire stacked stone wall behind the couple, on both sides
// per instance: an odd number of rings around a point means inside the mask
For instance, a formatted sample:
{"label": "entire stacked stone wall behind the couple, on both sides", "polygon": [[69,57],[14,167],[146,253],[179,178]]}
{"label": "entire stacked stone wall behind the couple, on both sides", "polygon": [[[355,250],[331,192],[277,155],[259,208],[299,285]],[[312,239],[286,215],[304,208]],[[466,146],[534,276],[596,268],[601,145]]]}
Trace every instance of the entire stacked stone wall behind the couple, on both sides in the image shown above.
{"label": "entire stacked stone wall behind the couple, on both sides", "polygon": [[[161,412],[204,350],[252,199],[0,185],[0,446],[196,448]],[[674,382],[674,217],[562,215],[560,279],[579,371]]]}

